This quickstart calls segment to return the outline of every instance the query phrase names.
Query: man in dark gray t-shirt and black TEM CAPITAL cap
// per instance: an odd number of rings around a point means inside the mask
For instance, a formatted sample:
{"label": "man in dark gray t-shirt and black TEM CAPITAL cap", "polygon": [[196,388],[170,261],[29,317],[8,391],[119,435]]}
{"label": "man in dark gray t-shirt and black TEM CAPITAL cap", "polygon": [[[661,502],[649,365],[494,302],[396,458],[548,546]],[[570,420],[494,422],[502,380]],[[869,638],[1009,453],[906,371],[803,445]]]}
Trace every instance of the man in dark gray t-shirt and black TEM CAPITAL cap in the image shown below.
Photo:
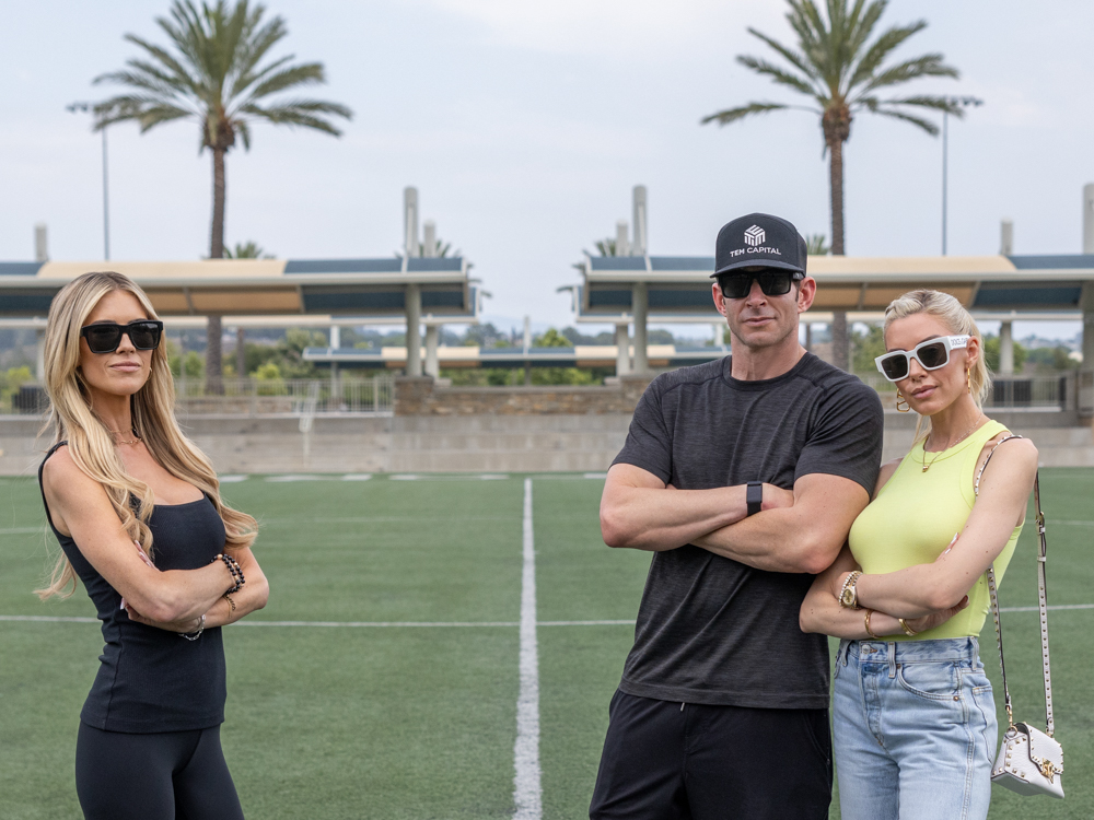
{"label": "man in dark gray t-shirt and black TEM CAPITAL cap", "polygon": [[789,222],[715,250],[732,356],[659,376],[608,471],[601,528],[653,552],[590,817],[827,818],[828,647],[799,628],[881,462],[877,395],[807,353],[816,282]]}

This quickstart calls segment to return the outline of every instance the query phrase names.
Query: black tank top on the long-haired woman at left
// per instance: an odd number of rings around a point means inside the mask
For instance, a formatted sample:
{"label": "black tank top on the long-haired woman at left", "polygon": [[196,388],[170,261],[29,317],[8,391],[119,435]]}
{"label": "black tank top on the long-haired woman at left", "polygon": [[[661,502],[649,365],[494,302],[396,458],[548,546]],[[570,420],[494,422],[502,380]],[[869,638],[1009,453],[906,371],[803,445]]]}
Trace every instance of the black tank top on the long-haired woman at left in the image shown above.
{"label": "black tank top on the long-haired woman at left", "polygon": [[[50,448],[46,461],[66,444]],[[38,485],[42,485],[42,467]],[[106,731],[150,734],[205,729],[224,722],[224,643],[220,628],[187,641],[129,620],[121,596],[46,518],[103,622],[106,646],[80,719]],[[149,519],[159,570],[197,570],[224,549],[224,522],[208,497],[188,504],[156,504]],[[136,550],[136,547],[133,548]]]}

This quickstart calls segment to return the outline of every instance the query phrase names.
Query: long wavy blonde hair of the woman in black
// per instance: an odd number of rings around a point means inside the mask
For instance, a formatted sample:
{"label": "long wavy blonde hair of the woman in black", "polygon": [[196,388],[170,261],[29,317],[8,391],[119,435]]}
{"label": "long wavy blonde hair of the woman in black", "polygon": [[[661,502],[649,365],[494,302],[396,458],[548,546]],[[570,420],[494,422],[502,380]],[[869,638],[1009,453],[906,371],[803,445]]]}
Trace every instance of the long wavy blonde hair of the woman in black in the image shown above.
{"label": "long wavy blonde hair of the woman in black", "polygon": [[[126,535],[152,555],[152,530],[148,526],[155,505],[152,488],[126,472],[109,430],[91,409],[90,389],[80,372],[80,329],[100,300],[114,291],[131,293],[148,318],[158,318],[144,291],[120,273],[84,273],[65,285],[49,307],[46,325],[46,429],[53,429],[54,444],[68,442],[77,467],[106,490]],[[165,344],[152,351],[148,380],[130,397],[129,406],[133,427],[152,458],[171,475],[197,487],[217,507],[228,536],[225,549],[249,547],[258,531],[257,523],[221,501],[212,464],[183,435],[175,420],[175,385]],[[136,514],[131,504],[135,499],[139,502]],[[55,595],[67,598],[74,590],[75,572],[62,553],[49,584],[35,594],[45,600]]]}

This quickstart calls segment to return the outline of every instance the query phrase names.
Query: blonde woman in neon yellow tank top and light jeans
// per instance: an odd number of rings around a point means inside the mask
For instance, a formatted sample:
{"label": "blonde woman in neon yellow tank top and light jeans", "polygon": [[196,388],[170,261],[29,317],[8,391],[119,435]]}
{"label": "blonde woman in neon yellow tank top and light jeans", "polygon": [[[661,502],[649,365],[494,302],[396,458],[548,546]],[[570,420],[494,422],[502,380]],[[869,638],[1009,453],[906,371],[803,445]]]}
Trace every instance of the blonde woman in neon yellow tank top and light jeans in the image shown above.
{"label": "blonde woman in neon yellow tank top and light jeans", "polygon": [[[986,572],[1002,579],[1037,471],[1026,440],[980,402],[980,332],[961,303],[913,291],[885,311],[878,368],[920,414],[916,444],[882,467],[848,546],[816,577],[801,625],[842,639],[833,733],[843,820],[984,820],[996,707],[977,636]],[[974,503],[975,502],[975,503]]]}

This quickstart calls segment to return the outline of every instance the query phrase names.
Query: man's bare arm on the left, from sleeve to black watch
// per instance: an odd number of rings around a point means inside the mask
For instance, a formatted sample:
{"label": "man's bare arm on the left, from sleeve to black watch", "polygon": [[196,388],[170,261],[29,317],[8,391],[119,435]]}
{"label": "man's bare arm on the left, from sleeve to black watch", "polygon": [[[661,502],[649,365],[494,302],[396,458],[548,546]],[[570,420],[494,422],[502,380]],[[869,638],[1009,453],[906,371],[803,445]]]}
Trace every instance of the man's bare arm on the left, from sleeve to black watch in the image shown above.
{"label": "man's bare arm on the left, from sleeve to black watch", "polygon": [[601,496],[601,535],[608,547],[674,550],[747,513],[746,488],[675,490],[649,470],[616,464]]}

